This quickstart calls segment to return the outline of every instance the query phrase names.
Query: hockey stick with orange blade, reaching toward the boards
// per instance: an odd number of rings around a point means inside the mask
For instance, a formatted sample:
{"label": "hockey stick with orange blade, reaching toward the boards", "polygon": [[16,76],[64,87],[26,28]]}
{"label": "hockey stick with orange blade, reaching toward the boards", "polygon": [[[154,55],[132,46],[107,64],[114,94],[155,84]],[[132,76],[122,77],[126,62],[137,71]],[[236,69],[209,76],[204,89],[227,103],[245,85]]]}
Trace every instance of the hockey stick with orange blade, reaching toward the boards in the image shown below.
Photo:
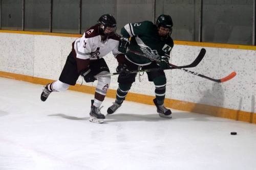
{"label": "hockey stick with orange blade, reaching toward the boards", "polygon": [[[135,52],[135,51],[131,51],[131,50],[129,50],[129,52],[134,53],[134,54],[136,54],[136,55],[138,55],[138,56],[142,56],[142,57],[148,58],[148,59],[150,59],[150,60],[154,60],[154,61],[156,61],[156,62],[160,62],[160,60],[158,60],[158,59],[145,56],[145,55],[143,55],[143,54],[141,54],[141,53],[139,53],[139,52]],[[237,73],[236,73],[235,71],[233,71],[233,72],[231,72],[231,74],[229,74],[228,76],[226,76],[226,77],[224,77],[224,78],[222,78],[222,79],[214,79],[214,78],[210,78],[210,77],[201,75],[201,74],[199,74],[198,72],[190,71],[190,70],[188,70],[188,69],[185,69],[185,68],[176,66],[176,65],[174,65],[174,64],[170,64],[170,63],[169,63],[169,66],[174,67],[174,68],[177,68],[177,69],[180,69],[180,70],[185,71],[185,72],[188,72],[188,73],[190,73],[190,74],[199,76],[199,77],[201,77],[201,78],[205,78],[205,79],[208,79],[208,80],[217,82],[217,83],[226,82],[226,81],[232,79],[233,77],[235,77],[235,76],[237,75]]]}

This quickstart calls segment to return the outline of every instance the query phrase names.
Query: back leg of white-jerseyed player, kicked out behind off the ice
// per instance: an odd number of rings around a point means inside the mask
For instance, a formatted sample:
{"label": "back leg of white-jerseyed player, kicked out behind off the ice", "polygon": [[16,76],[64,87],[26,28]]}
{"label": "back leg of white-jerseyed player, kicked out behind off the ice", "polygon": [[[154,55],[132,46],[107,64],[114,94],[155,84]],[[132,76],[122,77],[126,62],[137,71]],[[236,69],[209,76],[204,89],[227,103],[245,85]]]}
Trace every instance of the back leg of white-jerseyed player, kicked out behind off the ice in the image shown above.
{"label": "back leg of white-jerseyed player, kicked out behind off the ice", "polygon": [[77,72],[76,60],[73,57],[73,52],[71,52],[67,58],[66,64],[63,67],[59,80],[49,83],[45,86],[41,93],[41,101],[45,102],[53,91],[65,91],[70,85],[75,85],[79,77]]}

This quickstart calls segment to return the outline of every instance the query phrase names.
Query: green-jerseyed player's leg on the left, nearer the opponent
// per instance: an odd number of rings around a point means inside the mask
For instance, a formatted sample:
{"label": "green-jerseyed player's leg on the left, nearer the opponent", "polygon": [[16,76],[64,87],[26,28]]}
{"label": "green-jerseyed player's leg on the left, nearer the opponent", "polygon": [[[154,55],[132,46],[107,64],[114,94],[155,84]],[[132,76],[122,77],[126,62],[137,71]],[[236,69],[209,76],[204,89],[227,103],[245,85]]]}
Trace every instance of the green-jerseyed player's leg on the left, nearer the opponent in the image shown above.
{"label": "green-jerseyed player's leg on the left, nearer the opponent", "polygon": [[[127,66],[127,69],[129,70],[137,70],[138,65],[131,63],[128,60],[125,60],[125,64]],[[129,90],[132,87],[133,82],[135,82],[136,73],[134,74],[128,74],[128,75],[119,75],[117,82],[118,88],[116,91],[116,100],[113,103],[112,106],[110,106],[107,110],[108,114],[114,113],[119,107],[121,107],[123,101],[125,100],[125,97]]]}

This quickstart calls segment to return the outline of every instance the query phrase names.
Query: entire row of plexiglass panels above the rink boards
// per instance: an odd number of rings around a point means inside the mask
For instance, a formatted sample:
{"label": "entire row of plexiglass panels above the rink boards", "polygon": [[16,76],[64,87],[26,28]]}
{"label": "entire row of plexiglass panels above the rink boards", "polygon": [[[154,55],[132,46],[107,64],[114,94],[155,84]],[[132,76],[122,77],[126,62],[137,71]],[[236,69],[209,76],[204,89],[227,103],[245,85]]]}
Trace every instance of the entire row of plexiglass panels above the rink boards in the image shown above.
{"label": "entire row of plexiglass panels above the rink boards", "polygon": [[[23,29],[23,2],[25,2],[24,30],[49,32],[52,2],[52,32],[82,34],[95,25],[101,15],[109,13],[116,18],[117,33],[120,33],[120,29],[126,23],[143,20],[155,22],[160,14],[168,14],[174,22],[172,33],[174,40],[252,45],[255,39],[253,37],[255,0],[1,0],[1,2],[2,30]],[[81,19],[80,25],[79,19]]]}

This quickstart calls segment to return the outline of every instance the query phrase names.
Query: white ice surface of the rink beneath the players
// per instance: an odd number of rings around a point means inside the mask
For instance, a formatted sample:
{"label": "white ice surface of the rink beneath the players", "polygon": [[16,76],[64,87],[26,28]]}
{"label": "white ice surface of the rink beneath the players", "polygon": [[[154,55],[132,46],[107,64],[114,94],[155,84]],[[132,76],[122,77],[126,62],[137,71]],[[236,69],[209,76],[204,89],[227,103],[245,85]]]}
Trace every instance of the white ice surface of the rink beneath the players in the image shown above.
{"label": "white ice surface of the rink beneath the players", "polygon": [[68,90],[41,102],[41,85],[0,85],[1,170],[256,168],[255,124],[178,110],[165,119],[155,106],[127,101],[95,124],[94,95]]}

